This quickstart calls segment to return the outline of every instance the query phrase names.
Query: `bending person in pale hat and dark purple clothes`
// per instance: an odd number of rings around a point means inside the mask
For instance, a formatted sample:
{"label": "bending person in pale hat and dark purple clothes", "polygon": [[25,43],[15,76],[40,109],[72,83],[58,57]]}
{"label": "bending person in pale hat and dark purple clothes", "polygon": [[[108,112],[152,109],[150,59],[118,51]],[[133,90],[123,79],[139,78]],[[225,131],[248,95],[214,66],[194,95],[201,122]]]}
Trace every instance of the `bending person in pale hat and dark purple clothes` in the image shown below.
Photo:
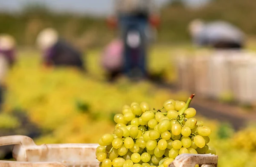
{"label": "bending person in pale hat and dark purple clothes", "polygon": [[45,66],[72,66],[85,70],[82,53],[70,43],[60,39],[58,32],[54,29],[42,30],[36,43],[43,53]]}

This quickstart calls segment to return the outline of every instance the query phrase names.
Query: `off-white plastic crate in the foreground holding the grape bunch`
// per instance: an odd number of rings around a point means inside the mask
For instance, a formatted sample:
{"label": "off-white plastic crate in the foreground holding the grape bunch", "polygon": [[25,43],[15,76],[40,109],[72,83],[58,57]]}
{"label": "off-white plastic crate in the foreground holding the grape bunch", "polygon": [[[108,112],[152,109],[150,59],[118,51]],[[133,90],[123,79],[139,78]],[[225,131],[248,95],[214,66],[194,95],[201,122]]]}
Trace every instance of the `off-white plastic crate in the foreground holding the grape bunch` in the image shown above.
{"label": "off-white plastic crate in the foreground holding the grape bunch", "polygon": [[[0,146],[13,145],[16,161],[0,161],[0,167],[99,167],[96,159],[98,144],[42,144],[23,135],[0,137]],[[217,167],[218,156],[182,154],[169,167]]]}

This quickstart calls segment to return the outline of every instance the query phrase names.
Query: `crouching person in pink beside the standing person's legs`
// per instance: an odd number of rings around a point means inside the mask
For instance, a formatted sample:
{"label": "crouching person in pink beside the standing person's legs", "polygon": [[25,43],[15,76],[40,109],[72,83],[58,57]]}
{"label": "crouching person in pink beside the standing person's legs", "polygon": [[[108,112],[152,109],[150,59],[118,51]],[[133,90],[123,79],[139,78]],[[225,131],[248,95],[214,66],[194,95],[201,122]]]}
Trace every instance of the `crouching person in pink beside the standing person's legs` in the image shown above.
{"label": "crouching person in pink beside the standing person's legs", "polygon": [[114,39],[103,50],[101,65],[108,74],[108,80],[114,81],[122,73],[123,67],[123,43],[120,39]]}

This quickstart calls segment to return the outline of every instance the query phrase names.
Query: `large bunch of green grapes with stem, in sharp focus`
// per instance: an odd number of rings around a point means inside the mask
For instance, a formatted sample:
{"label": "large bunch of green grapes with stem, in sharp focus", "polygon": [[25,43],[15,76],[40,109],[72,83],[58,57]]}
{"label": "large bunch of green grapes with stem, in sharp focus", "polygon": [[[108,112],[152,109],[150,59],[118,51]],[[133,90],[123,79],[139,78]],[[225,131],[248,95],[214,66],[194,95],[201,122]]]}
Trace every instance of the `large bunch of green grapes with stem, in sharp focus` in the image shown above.
{"label": "large bunch of green grapes with stem, in sharp focus", "polygon": [[193,118],[188,101],[168,100],[161,109],[150,110],[147,103],[125,105],[116,114],[113,134],[99,139],[96,157],[102,167],[168,167],[177,155],[215,154],[208,147],[209,127]]}

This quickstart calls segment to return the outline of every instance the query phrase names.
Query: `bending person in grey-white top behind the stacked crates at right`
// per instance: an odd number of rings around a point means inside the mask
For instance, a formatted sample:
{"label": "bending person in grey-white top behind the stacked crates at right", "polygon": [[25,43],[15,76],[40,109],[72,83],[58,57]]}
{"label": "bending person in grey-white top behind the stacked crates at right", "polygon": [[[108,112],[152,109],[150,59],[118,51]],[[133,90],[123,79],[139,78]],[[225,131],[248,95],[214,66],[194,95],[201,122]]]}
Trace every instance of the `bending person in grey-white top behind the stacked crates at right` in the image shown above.
{"label": "bending person in grey-white top behind the stacked crates at right", "polygon": [[244,47],[244,33],[225,21],[204,23],[200,19],[189,23],[189,32],[197,46],[211,46],[219,49],[241,49]]}

